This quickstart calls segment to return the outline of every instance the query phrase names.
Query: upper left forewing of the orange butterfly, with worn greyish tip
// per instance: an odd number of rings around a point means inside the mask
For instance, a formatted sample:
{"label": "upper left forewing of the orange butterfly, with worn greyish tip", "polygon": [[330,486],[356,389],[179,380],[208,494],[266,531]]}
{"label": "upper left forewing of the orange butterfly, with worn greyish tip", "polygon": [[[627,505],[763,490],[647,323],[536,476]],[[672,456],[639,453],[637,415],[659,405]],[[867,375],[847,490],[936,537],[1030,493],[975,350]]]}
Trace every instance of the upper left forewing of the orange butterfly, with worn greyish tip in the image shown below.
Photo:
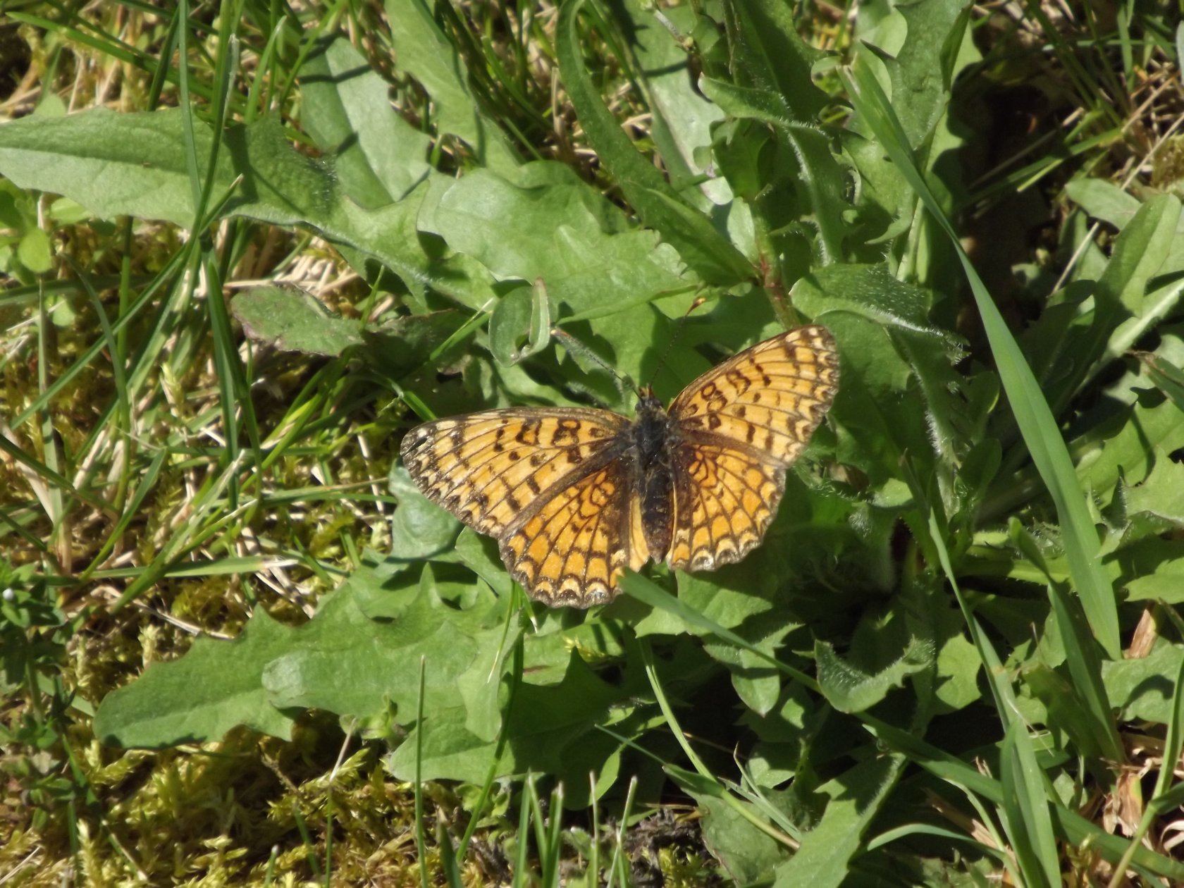
{"label": "upper left forewing of the orange butterfly, with worn greyish tip", "polygon": [[501,538],[540,498],[598,470],[628,425],[605,410],[490,410],[411,430],[401,456],[429,500]]}

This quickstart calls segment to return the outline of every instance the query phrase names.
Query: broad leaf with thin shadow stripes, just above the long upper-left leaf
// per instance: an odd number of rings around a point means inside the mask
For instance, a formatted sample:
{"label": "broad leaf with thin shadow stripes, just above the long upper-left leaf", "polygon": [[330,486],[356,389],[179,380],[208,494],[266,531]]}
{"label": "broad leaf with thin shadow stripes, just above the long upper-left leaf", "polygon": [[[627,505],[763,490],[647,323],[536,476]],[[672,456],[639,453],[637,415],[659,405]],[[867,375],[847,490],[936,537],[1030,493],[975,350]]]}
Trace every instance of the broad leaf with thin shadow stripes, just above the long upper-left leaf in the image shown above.
{"label": "broad leaf with thin shadow stripes, just above the long upper-left leaf", "polygon": [[343,34],[316,44],[300,84],[301,123],[358,204],[400,200],[427,176],[431,139],[394,112],[386,82]]}

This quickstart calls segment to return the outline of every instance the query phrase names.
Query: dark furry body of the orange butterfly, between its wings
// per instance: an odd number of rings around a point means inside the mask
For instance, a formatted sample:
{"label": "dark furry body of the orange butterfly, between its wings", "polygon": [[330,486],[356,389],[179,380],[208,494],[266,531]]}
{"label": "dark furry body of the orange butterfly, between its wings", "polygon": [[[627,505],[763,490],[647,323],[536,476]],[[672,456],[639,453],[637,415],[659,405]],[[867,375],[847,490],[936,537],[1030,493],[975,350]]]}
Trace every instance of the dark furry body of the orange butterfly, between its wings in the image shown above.
{"label": "dark furry body of the orange butterfly, between its wings", "polygon": [[637,418],[630,429],[632,464],[641,496],[642,527],[650,555],[662,560],[670,549],[674,470],[671,449],[677,438],[675,422],[662,401],[646,388],[637,404]]}

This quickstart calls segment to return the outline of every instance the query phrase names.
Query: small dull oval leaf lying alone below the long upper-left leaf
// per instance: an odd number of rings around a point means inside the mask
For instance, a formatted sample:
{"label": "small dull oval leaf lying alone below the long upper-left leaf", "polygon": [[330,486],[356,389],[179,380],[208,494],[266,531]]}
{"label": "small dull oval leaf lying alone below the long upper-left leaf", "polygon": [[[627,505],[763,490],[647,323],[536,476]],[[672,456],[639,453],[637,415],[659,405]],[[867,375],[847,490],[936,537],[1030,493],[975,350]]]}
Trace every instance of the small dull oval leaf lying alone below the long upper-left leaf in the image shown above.
{"label": "small dull oval leaf lying alone below the long upper-left leaf", "polygon": [[298,290],[256,287],[238,294],[230,308],[247,336],[282,352],[340,355],[362,342],[356,322]]}

